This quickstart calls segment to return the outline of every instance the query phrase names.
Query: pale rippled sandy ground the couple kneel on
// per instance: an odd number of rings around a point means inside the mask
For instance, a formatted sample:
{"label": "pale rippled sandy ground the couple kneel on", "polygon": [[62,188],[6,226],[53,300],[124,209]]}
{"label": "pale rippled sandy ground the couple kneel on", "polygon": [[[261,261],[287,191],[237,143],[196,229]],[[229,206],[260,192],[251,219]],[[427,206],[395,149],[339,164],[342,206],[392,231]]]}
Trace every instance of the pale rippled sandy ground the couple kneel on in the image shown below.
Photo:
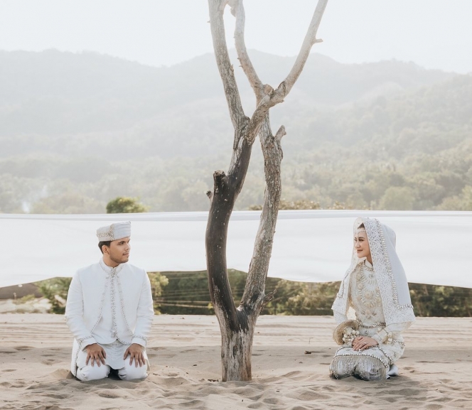
{"label": "pale rippled sandy ground the couple kneel on", "polygon": [[252,382],[223,383],[215,317],[159,315],[147,379],[79,382],[63,316],[0,314],[0,409],[472,409],[470,318],[418,318],[399,377],[383,382],[328,377],[333,328],[331,317],[262,316]]}

